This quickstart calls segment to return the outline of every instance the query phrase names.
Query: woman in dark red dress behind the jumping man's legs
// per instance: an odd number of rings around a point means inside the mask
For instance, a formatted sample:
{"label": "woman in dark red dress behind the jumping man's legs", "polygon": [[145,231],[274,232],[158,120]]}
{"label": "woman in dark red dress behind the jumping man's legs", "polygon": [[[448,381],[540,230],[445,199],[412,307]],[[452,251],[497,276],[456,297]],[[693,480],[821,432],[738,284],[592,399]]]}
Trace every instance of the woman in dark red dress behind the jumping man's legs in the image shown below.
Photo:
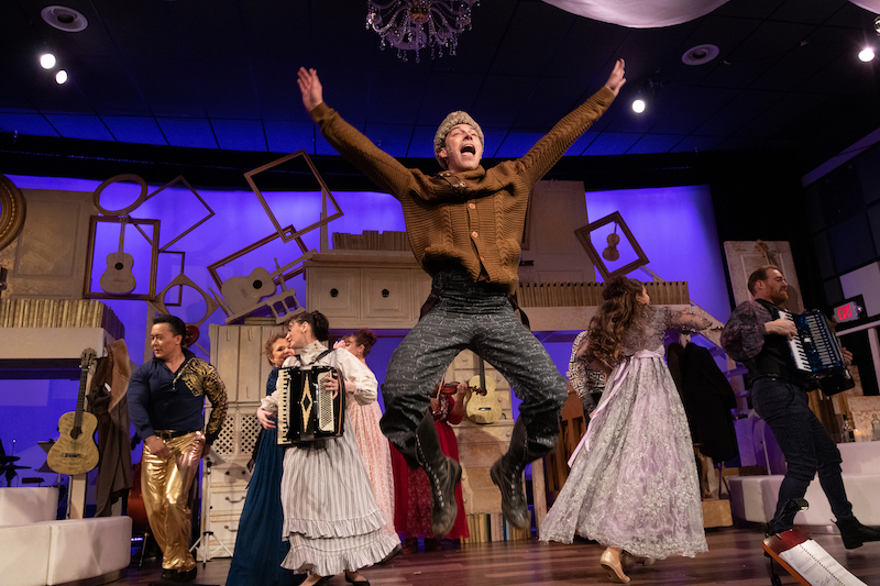
{"label": "woman in dark red dress behind the jumping man's legs", "polygon": [[[468,385],[452,383],[438,385],[435,396],[431,397],[431,413],[440,447],[443,454],[459,460],[459,442],[452,424],[461,423],[464,417],[464,395]],[[394,524],[403,533],[404,553],[411,553],[418,549],[418,538],[425,538],[426,551],[442,550],[440,541],[431,531],[431,487],[428,476],[421,468],[409,469],[404,456],[392,446],[392,465],[394,466],[395,513]],[[455,522],[446,534],[447,539],[462,539],[469,537],[468,519],[464,516],[464,499],[461,493],[461,483],[455,485],[455,502],[459,512]]]}

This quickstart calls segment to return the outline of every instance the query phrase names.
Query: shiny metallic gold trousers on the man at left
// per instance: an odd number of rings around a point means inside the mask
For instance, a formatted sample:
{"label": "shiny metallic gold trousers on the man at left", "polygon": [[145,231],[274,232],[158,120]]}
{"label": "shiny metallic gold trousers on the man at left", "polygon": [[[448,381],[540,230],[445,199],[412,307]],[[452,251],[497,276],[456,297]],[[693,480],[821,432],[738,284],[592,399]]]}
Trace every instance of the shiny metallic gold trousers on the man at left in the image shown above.
{"label": "shiny metallic gold trousers on the man at left", "polygon": [[196,567],[189,551],[193,511],[189,490],[199,469],[205,434],[194,431],[166,440],[169,457],[158,457],[144,445],[141,456],[141,490],[146,519],[162,550],[163,570],[188,572]]}

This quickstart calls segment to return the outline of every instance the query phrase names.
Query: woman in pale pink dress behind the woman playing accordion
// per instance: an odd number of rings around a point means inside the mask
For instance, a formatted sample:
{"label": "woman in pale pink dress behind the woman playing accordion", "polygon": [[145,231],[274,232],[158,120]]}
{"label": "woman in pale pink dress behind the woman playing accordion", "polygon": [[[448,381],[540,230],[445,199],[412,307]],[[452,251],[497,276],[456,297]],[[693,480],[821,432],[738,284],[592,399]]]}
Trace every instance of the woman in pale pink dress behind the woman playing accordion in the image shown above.
{"label": "woman in pale pink dress behind the woman playing accordion", "polygon": [[[346,335],[338,341],[333,347],[343,347],[361,361],[364,368],[370,371],[366,365],[366,355],[373,344],[376,343],[376,335],[372,330],[363,329]],[[372,372],[372,371],[371,371]],[[369,405],[360,405],[355,400],[345,401],[345,424],[354,431],[358,438],[358,446],[361,449],[366,473],[373,491],[376,495],[376,502],[386,522],[383,528],[388,535],[396,537],[394,530],[394,474],[392,473],[392,455],[388,440],[382,434],[378,420],[382,419],[382,409],[378,401]]]}

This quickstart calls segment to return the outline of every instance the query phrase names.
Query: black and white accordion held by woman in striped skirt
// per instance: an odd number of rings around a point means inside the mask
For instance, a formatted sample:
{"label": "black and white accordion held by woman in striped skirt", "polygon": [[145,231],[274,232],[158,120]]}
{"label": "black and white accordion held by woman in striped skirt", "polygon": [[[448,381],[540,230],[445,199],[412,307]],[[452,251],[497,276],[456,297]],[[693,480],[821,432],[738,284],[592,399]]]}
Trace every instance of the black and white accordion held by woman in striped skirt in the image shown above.
{"label": "black and white accordion held by woman in striped skirt", "polygon": [[[328,377],[340,382],[337,396],[323,386]],[[342,435],[345,389],[332,366],[294,366],[278,371],[278,445],[314,442]]]}

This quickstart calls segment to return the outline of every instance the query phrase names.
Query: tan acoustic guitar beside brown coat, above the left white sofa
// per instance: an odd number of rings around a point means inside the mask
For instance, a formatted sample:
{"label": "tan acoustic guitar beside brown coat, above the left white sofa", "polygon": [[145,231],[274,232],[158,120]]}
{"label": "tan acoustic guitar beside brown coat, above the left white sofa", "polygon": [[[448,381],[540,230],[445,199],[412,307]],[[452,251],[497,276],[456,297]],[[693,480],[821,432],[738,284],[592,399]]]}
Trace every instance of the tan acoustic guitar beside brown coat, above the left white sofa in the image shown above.
{"label": "tan acoustic guitar beside brown coat, above the left white sofa", "polygon": [[58,441],[46,454],[46,464],[58,474],[85,474],[98,465],[98,445],[95,443],[98,418],[85,412],[86,382],[96,357],[90,347],[82,351],[76,411],[64,413],[58,419]]}

